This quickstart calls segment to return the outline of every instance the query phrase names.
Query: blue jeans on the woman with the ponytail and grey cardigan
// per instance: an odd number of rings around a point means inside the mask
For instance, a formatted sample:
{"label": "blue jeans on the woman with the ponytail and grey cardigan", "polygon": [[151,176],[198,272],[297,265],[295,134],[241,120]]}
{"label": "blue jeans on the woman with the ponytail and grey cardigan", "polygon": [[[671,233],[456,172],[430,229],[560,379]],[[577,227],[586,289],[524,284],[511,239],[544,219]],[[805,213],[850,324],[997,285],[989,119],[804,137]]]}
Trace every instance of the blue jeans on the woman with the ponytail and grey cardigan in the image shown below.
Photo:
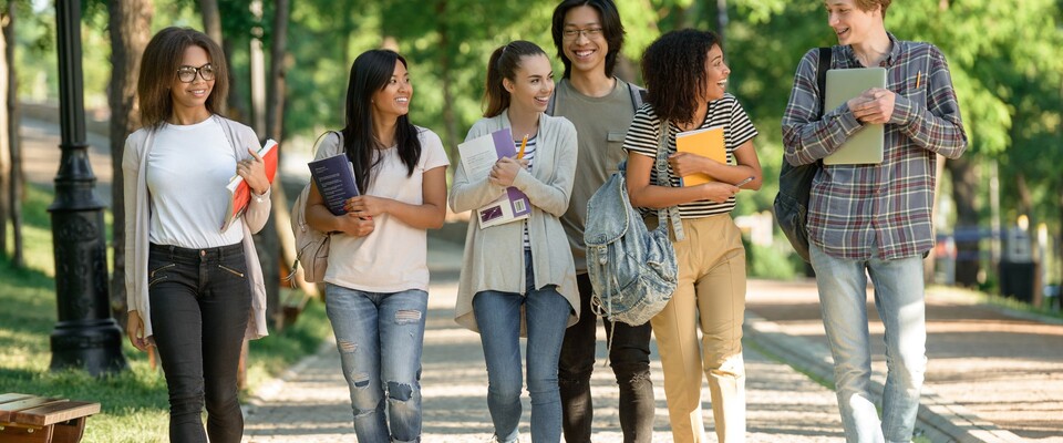
{"label": "blue jeans on the woman with the ponytail and grey cardigan", "polygon": [[557,359],[571,307],[554,286],[535,289],[532,255],[525,253],[525,293],[481,291],[473,312],[487,363],[487,409],[495,436],[516,442],[520,423],[520,311],[527,324],[528,394],[532,396],[532,441],[561,440],[561,398],[557,388]]}

